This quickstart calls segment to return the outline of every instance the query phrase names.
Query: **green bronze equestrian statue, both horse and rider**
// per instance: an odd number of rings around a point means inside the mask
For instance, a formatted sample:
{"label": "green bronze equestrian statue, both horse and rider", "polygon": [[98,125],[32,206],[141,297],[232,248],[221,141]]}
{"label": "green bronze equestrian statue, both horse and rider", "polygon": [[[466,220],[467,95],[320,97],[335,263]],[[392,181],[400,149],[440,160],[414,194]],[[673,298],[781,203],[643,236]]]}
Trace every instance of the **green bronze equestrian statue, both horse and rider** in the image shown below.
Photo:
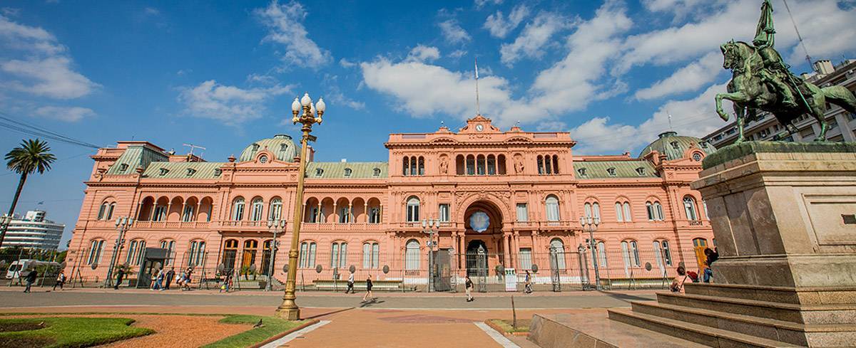
{"label": "green bronze equestrian statue, both horse and rider", "polygon": [[773,26],[773,5],[764,0],[761,18],[752,44],[731,40],[722,44],[724,56],[722,68],[732,72],[728,82],[728,93],[716,95],[716,113],[728,121],[728,113],[722,110],[722,100],[734,102],[734,115],[740,135],[735,143],[743,142],[743,128],[756,119],[758,110],[772,113],[785,131],[775,140],[782,140],[796,132],[791,124],[805,113],[811,114],[820,125],[816,141],[826,141],[829,125],[824,118],[826,103],[838,105],[850,113],[856,113],[856,96],[844,86],[819,88],[803,81],[790,72],[782,55],[774,48],[776,29]]}

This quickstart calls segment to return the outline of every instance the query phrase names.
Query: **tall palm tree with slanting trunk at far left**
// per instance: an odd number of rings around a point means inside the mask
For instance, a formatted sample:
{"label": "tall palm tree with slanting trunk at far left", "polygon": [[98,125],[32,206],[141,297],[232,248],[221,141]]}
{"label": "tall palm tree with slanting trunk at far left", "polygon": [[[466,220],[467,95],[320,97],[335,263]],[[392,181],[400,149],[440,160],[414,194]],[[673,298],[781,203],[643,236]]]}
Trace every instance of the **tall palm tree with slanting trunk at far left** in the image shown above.
{"label": "tall palm tree with slanting trunk at far left", "polygon": [[[51,170],[51,162],[56,160],[56,157],[51,154],[51,148],[48,143],[40,139],[30,139],[21,142],[17,148],[13,148],[6,154],[6,166],[10,171],[15,171],[21,175],[21,180],[18,181],[18,189],[15,190],[15,198],[12,199],[12,206],[9,206],[9,217],[15,212],[15,206],[18,205],[18,197],[21,196],[21,189],[24,188],[24,183],[27,182],[27,176],[39,171],[39,174]],[[3,223],[0,229],[0,247],[3,246],[3,238],[6,237],[6,229],[9,229],[9,222]]]}

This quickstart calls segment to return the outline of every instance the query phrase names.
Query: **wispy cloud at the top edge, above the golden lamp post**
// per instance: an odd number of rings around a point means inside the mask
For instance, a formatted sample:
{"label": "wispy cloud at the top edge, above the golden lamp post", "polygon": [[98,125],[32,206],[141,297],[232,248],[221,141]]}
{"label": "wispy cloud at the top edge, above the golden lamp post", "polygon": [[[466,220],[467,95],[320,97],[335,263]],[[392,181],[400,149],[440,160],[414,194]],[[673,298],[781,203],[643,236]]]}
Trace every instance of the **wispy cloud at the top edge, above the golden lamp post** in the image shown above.
{"label": "wispy cloud at the top edge, above the golden lamp post", "polygon": [[309,38],[309,33],[303,26],[306,9],[300,3],[281,5],[277,0],[273,0],[265,9],[256,9],[254,12],[268,28],[264,41],[285,46],[281,59],[286,67],[296,65],[318,68],[332,60],[330,51],[318,47],[318,44]]}

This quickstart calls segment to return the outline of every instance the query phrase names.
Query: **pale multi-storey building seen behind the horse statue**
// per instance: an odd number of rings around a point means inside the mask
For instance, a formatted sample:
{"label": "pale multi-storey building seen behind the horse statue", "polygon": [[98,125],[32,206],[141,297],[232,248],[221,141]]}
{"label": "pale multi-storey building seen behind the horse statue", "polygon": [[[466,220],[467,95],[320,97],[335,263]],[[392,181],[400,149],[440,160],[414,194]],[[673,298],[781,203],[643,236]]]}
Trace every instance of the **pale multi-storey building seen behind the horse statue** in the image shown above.
{"label": "pale multi-storey building seen behind the horse statue", "polygon": [[[819,87],[842,85],[848,90],[856,90],[856,60],[843,61],[835,67],[829,61],[816,61],[814,69],[815,71],[812,73],[802,74],[802,78]],[[829,125],[829,131],[826,132],[827,140],[830,142],[856,142],[856,115],[848,113],[841,107],[829,104],[825,117]],[[794,120],[794,126],[798,132],[788,136],[786,141],[811,142],[820,133],[820,125],[817,124],[817,120],[807,114]],[[758,120],[749,122],[744,128],[746,140],[749,141],[772,140],[773,136],[783,131],[785,131],[785,127],[779,125],[776,117],[770,113],[759,113]],[[702,139],[716,148],[724,148],[733,144],[737,140],[737,136],[737,124],[732,121]]]}

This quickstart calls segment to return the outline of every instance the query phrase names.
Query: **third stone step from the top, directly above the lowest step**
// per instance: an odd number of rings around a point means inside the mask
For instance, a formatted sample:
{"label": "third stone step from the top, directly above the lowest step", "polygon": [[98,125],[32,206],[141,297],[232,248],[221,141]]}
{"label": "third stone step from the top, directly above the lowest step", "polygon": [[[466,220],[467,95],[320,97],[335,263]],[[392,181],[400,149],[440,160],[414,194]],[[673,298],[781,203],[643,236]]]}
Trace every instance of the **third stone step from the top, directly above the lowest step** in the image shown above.
{"label": "third stone step from the top, directly above the lowest step", "polygon": [[749,334],[794,345],[808,345],[810,341],[822,341],[827,345],[844,346],[849,343],[832,342],[829,333],[856,331],[856,325],[853,324],[800,324],[718,310],[659,304],[653,301],[633,302],[632,305],[633,312],[636,313],[660,316],[682,322],[692,322],[710,328],[721,328],[740,334]]}

